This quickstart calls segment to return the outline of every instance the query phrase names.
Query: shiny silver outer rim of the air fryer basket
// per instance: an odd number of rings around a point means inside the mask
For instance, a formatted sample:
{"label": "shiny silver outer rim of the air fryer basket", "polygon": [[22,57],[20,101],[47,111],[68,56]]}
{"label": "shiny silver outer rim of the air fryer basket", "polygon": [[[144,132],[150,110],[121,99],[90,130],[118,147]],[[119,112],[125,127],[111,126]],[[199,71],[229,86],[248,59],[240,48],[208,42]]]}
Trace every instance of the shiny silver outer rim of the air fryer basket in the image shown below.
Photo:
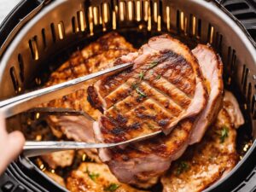
{"label": "shiny silver outer rim of the air fryer basket", "polygon": [[[30,30],[30,28],[32,26],[36,25],[38,20],[42,19],[46,13],[50,12],[52,9],[56,9],[58,6],[61,6],[63,3],[67,3],[67,2],[68,2],[68,0],[65,0],[65,1],[64,0],[63,1],[55,0],[54,2],[49,3],[49,5],[47,5],[44,9],[42,9],[38,13],[38,15],[35,15],[34,18],[32,18],[32,20],[30,20],[26,24],[26,26],[24,26],[20,30],[20,32],[16,35],[16,37],[11,42],[11,44],[9,44],[9,47],[6,49],[5,53],[3,54],[3,57],[1,60],[1,65],[0,65],[0,77],[3,77],[3,75],[4,75],[3,71],[4,71],[4,68],[6,67],[6,63],[9,61],[9,57],[14,52],[16,45],[19,44],[20,39],[22,39],[22,37],[26,35],[26,33]],[[79,3],[79,2],[82,2],[82,1],[81,0],[73,1],[73,3]],[[175,3],[175,2],[177,2],[177,0],[173,0],[172,2]],[[247,38],[246,33],[244,33],[241,30],[240,26],[236,25],[236,22],[234,20],[232,20],[230,17],[228,17],[226,14],[224,14],[223,11],[218,9],[217,6],[213,5],[213,3],[208,3],[206,1],[190,0],[190,2],[197,4],[199,7],[204,7],[205,9],[211,10],[212,12],[215,13],[215,15],[218,15],[219,17],[223,17],[227,22],[230,23],[231,26],[233,26],[233,30],[237,33],[237,35],[240,36],[244,40],[244,44],[246,44],[247,51],[250,52],[252,55],[256,55],[255,48],[254,48],[253,44],[250,42],[250,40]],[[189,7],[189,5],[188,5],[188,7]],[[254,61],[254,67],[255,67],[256,58],[254,57],[253,59],[254,59],[253,61]],[[0,78],[0,81],[1,81],[1,78]],[[227,176],[225,176],[223,179],[221,179],[217,183],[214,183],[206,191],[216,188],[216,186],[218,186],[219,183],[225,182],[231,175],[235,174],[238,167],[240,167],[247,160],[247,158],[250,155],[253,155],[253,152],[255,152],[255,148],[256,148],[256,141],[254,140],[253,146],[247,151],[247,154],[236,165],[236,167]]]}

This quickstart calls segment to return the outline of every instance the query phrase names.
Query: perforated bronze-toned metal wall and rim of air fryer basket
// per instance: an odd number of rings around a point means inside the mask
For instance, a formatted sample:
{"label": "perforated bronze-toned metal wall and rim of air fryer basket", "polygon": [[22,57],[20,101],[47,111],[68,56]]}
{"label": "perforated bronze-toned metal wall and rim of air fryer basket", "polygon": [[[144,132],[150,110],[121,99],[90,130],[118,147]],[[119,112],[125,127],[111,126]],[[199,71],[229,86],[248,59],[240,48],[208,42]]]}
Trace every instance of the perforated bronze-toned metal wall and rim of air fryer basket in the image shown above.
{"label": "perforated bronze-toned metal wall and rim of air fryer basket", "polygon": [[[217,49],[224,61],[226,87],[241,93],[239,102],[249,112],[247,125],[252,127],[253,138],[256,137],[255,43],[218,3],[204,0],[43,1],[24,20],[26,25],[21,29],[16,27],[0,49],[0,99],[30,88],[37,78],[35,74],[48,67],[46,61],[60,55],[63,48],[76,47],[79,42],[90,42],[111,31],[128,34],[130,38],[136,36],[129,34],[139,34],[137,39],[128,39],[131,42],[144,42],[154,34],[170,32],[186,42],[210,43]],[[9,119],[10,122],[12,126],[20,125],[19,117]],[[228,191],[229,182],[241,182],[244,177],[241,171],[246,174],[255,166],[255,149],[254,140],[237,166],[207,190]],[[22,157],[19,164],[40,172]],[[45,177],[43,172],[40,174]]]}

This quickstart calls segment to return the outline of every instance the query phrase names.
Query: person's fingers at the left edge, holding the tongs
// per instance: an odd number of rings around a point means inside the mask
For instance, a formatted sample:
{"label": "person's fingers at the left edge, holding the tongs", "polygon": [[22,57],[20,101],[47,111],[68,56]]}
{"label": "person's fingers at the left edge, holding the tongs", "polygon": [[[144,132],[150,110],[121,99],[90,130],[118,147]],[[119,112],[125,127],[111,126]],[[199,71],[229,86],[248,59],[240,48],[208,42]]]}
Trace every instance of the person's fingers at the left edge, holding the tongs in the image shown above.
{"label": "person's fingers at the left edge, holding the tongs", "polygon": [[20,131],[8,133],[6,131],[5,119],[0,113],[0,175],[12,160],[20,154],[25,138]]}

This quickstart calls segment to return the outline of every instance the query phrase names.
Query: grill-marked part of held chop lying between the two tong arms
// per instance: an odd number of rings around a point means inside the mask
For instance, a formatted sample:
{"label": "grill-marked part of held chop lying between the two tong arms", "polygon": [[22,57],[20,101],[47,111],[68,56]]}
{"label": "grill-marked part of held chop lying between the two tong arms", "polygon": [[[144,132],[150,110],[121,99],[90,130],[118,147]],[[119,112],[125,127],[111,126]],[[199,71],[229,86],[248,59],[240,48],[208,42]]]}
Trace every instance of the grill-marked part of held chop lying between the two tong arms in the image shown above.
{"label": "grill-marked part of held chop lying between the two tong arms", "polygon": [[[189,48],[168,35],[151,38],[137,53],[114,64],[134,62],[132,69],[101,79],[88,90],[104,115],[94,126],[101,142],[117,143],[162,130],[200,113],[207,92]],[[101,138],[103,139],[101,139]]]}

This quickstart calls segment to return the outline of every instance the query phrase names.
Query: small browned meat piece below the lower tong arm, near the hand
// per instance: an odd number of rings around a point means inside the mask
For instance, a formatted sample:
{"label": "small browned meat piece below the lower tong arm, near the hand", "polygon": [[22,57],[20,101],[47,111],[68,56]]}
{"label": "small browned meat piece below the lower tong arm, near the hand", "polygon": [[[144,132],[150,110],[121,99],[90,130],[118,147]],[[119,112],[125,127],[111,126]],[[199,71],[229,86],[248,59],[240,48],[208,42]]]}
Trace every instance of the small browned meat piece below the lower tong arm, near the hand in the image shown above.
{"label": "small browned meat piece below the lower tong arm, near the hand", "polygon": [[52,169],[55,169],[57,166],[71,166],[73,163],[74,151],[60,151],[52,154],[44,154],[41,158]]}

